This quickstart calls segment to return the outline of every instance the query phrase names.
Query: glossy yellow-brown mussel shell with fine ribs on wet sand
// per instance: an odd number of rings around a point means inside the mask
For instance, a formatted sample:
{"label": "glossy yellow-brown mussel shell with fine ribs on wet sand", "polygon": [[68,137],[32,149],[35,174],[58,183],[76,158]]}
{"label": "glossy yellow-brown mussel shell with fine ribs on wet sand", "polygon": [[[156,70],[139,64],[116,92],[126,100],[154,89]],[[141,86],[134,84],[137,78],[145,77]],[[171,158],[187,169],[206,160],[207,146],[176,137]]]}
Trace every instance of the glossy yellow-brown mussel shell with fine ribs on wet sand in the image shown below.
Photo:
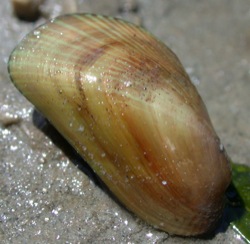
{"label": "glossy yellow-brown mussel shell with fine ribs on wet sand", "polygon": [[214,228],[230,165],[162,42],[122,20],[62,16],[24,38],[9,74],[129,210],[172,234]]}

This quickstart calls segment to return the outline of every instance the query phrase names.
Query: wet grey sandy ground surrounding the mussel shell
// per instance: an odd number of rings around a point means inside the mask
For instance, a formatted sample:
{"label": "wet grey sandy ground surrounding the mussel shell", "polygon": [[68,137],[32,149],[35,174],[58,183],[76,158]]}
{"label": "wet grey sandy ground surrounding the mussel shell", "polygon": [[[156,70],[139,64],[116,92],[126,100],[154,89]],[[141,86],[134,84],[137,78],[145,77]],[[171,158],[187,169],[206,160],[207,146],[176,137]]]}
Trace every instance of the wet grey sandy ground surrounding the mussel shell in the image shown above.
{"label": "wet grey sandy ground surrounding the mussel shell", "polygon": [[42,11],[45,17],[28,23],[9,1],[0,6],[0,242],[240,243],[222,226],[206,240],[170,237],[122,208],[14,88],[7,61],[26,33],[58,14],[140,23],[180,58],[232,160],[250,165],[249,0],[47,0]]}

